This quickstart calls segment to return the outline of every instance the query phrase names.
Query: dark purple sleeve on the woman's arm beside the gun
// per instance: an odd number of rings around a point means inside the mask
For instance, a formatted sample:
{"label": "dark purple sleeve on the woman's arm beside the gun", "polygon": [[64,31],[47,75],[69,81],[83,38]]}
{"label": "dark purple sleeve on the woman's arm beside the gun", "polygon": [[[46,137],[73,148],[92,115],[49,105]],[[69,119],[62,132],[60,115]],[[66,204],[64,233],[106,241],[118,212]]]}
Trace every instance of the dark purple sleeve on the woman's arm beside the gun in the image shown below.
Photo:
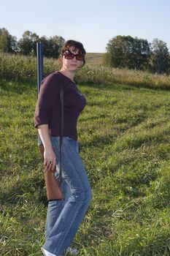
{"label": "dark purple sleeve on the woman's arm beside the gun", "polygon": [[59,78],[56,73],[42,80],[34,114],[35,127],[50,124],[50,118],[59,94]]}

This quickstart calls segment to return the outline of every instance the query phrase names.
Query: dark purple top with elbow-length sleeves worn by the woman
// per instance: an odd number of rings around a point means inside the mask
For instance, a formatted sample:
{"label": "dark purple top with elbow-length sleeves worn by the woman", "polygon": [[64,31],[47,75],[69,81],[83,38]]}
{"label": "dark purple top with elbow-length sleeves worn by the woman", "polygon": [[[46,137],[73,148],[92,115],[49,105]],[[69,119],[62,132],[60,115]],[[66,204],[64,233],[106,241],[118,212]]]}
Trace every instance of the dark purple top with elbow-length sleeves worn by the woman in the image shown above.
{"label": "dark purple top with elbow-length sleeves worn by the woman", "polygon": [[77,140],[77,119],[85,108],[86,100],[76,84],[60,72],[42,80],[35,109],[35,127],[48,124],[51,135],[60,135],[59,76],[63,83],[63,136]]}

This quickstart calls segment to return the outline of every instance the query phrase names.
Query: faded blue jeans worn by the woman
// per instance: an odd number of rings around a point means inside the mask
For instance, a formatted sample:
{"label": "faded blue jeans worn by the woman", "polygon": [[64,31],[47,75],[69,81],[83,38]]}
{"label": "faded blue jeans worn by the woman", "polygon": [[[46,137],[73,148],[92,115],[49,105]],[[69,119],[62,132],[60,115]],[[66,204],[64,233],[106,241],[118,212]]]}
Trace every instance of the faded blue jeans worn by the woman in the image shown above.
{"label": "faded blue jeans worn by the woman", "polygon": [[[59,170],[60,138],[51,137]],[[64,200],[48,203],[45,226],[45,244],[42,246],[54,255],[62,255],[71,244],[91,200],[91,189],[85,167],[78,153],[78,142],[63,137],[61,190]]]}

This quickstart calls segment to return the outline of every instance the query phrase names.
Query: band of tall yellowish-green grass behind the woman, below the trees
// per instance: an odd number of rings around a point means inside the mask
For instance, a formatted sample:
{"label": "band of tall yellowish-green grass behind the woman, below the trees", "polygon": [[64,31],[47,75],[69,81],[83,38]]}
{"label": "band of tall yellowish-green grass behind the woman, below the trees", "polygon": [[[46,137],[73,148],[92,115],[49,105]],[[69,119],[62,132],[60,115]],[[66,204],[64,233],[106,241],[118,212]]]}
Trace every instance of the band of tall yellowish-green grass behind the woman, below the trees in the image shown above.
{"label": "band of tall yellowish-green grass behind the woman, below the trees", "polygon": [[[89,63],[91,63],[90,60]],[[56,59],[44,59],[44,74],[60,69]],[[31,56],[18,56],[0,53],[1,78],[36,78],[36,59]],[[147,87],[151,89],[170,89],[170,76],[153,75],[129,69],[112,69],[87,64],[79,70],[76,80],[79,83],[112,84]]]}

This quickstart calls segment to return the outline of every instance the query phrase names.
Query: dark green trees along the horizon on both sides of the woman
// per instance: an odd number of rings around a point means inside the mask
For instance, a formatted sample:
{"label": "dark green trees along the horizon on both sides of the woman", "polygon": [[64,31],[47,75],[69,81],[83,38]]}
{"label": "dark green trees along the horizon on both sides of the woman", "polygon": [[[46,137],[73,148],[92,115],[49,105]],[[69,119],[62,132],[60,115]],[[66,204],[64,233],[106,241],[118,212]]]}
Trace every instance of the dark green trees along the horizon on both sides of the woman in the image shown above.
{"label": "dark green trees along the horizon on both sides of the woman", "polygon": [[[44,56],[58,58],[63,37],[39,37],[36,33],[25,31],[23,37],[17,40],[7,29],[0,29],[0,52],[20,53],[36,56],[36,42],[44,45]],[[104,65],[117,68],[149,70],[157,73],[170,73],[170,54],[166,42],[131,36],[116,36],[107,43],[107,53],[104,54]]]}

